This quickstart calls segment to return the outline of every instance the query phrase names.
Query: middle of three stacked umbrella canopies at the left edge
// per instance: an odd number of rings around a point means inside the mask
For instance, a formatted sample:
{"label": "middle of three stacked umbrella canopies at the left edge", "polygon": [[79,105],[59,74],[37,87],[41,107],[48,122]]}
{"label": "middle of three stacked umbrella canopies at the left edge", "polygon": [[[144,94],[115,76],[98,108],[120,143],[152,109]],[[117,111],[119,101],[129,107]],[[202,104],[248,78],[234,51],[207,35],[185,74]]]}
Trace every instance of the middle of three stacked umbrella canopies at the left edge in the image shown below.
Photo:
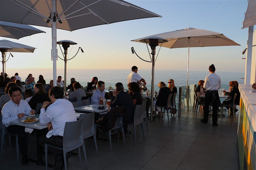
{"label": "middle of three stacked umbrella canopies at the left edge", "polygon": [[37,33],[45,33],[35,27],[25,24],[17,24],[13,22],[0,21],[0,36],[7,38],[20,39]]}

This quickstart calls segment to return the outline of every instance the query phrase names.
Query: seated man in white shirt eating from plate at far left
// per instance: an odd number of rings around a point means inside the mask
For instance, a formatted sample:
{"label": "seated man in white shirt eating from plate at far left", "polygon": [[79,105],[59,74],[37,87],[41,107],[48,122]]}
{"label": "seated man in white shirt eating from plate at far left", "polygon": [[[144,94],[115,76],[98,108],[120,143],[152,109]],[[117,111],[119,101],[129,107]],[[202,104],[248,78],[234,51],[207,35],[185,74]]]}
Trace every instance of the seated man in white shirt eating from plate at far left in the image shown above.
{"label": "seated man in white shirt eating from plate at far left", "polygon": [[11,121],[21,119],[25,115],[35,114],[25,100],[21,99],[21,89],[19,87],[12,87],[9,89],[8,94],[11,98],[2,109],[2,122],[7,127],[8,132],[18,135],[19,148],[22,154],[22,164],[28,163],[27,158],[27,140],[24,126],[12,125]]}

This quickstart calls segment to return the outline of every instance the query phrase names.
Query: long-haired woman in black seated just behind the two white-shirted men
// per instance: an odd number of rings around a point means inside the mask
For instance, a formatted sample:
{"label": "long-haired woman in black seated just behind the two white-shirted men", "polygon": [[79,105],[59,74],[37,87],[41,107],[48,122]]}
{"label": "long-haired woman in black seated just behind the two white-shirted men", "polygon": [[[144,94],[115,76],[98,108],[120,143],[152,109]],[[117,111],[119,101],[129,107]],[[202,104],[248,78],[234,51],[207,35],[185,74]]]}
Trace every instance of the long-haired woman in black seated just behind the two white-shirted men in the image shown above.
{"label": "long-haired woman in black seated just behind the two white-shirted men", "polygon": [[31,109],[36,110],[38,103],[43,103],[45,101],[51,101],[49,95],[45,92],[44,86],[41,83],[34,85],[35,96],[33,96],[28,102]]}

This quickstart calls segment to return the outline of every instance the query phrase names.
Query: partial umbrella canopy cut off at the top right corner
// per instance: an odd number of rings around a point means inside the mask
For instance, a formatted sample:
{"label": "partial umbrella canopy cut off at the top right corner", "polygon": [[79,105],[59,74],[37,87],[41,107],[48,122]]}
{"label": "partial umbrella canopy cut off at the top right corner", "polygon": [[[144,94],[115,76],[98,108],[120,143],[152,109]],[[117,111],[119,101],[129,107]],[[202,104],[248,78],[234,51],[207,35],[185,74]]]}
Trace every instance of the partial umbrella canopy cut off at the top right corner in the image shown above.
{"label": "partial umbrella canopy cut off at the top right corner", "polygon": [[247,11],[245,13],[245,20],[243,21],[243,28],[256,25],[256,0],[248,2]]}

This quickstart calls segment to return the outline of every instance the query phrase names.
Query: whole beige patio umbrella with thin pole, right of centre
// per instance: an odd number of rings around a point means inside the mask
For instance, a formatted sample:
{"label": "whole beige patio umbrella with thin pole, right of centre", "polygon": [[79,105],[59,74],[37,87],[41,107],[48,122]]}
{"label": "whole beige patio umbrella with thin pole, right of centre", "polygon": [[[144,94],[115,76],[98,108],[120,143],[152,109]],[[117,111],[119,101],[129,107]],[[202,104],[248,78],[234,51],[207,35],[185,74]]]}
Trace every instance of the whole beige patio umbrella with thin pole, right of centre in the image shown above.
{"label": "whole beige patio umbrella with thin pole, right of centre", "polygon": [[[188,66],[189,66],[189,47],[205,47],[205,46],[240,46],[233,40],[224,36],[221,33],[216,33],[207,30],[185,28],[182,30],[171,31],[167,33],[159,33],[150,35],[143,38],[138,38],[136,42],[145,43],[140,41],[148,37],[160,37],[168,40],[161,46],[167,48],[183,48],[188,47]],[[191,41],[190,41],[191,40]],[[188,85],[188,68],[187,68],[187,85]]]}

